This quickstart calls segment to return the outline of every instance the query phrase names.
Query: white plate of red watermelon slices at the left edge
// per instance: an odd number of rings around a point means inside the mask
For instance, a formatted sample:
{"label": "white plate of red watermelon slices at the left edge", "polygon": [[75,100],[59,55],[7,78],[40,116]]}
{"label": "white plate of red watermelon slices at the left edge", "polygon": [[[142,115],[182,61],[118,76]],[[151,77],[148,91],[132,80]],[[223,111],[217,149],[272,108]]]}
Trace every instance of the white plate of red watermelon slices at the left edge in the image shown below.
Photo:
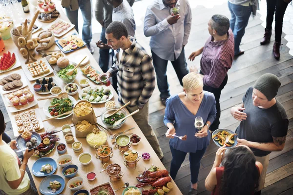
{"label": "white plate of red watermelon slices at the left edge", "polygon": [[11,71],[21,66],[21,61],[16,53],[3,53],[0,57],[0,74]]}

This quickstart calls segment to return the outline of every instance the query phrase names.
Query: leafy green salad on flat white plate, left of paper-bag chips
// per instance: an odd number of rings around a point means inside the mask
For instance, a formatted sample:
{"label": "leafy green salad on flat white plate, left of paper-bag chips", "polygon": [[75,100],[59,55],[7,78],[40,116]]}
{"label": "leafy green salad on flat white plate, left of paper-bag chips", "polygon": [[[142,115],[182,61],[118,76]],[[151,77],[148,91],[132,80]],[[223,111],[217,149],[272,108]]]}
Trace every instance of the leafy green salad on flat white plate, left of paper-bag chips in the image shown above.
{"label": "leafy green salad on flat white plate, left of paper-bag chips", "polygon": [[51,105],[48,107],[48,111],[51,116],[58,116],[71,111],[73,109],[73,103],[69,98],[53,98]]}

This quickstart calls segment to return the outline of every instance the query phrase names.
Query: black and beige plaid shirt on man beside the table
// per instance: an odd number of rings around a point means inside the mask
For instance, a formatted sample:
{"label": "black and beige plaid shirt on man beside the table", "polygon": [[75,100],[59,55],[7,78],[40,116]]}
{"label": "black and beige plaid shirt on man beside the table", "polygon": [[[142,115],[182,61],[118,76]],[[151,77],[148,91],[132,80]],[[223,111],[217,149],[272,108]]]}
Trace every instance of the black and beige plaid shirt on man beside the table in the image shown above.
{"label": "black and beige plaid shirt on man beside the table", "polygon": [[117,59],[119,50],[115,50],[114,65],[108,70],[113,77],[117,74],[119,102],[142,108],[151,97],[155,89],[155,72],[152,58],[133,37],[131,46],[123,51],[122,57]]}

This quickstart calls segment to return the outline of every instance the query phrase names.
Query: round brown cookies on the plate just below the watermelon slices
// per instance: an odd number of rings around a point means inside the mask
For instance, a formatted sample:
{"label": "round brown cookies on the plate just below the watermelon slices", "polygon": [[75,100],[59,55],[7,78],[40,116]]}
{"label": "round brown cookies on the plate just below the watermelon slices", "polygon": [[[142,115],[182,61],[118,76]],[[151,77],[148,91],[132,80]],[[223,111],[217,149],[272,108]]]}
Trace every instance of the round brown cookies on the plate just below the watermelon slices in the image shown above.
{"label": "round brown cookies on the plate just below the watermelon slices", "polygon": [[21,75],[16,73],[8,75],[7,77],[0,79],[0,85],[3,86],[3,91],[10,91],[19,88],[23,85],[21,82]]}

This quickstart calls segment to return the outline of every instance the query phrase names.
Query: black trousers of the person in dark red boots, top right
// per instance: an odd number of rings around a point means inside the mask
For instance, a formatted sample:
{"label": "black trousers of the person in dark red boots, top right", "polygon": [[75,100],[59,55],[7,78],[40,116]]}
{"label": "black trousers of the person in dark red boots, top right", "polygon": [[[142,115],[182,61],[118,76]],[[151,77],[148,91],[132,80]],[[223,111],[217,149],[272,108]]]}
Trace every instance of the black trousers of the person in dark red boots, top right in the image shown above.
{"label": "black trousers of the person in dark red boots, top right", "polygon": [[272,29],[273,14],[275,13],[275,41],[281,42],[283,18],[289,3],[283,0],[267,0],[267,26]]}

